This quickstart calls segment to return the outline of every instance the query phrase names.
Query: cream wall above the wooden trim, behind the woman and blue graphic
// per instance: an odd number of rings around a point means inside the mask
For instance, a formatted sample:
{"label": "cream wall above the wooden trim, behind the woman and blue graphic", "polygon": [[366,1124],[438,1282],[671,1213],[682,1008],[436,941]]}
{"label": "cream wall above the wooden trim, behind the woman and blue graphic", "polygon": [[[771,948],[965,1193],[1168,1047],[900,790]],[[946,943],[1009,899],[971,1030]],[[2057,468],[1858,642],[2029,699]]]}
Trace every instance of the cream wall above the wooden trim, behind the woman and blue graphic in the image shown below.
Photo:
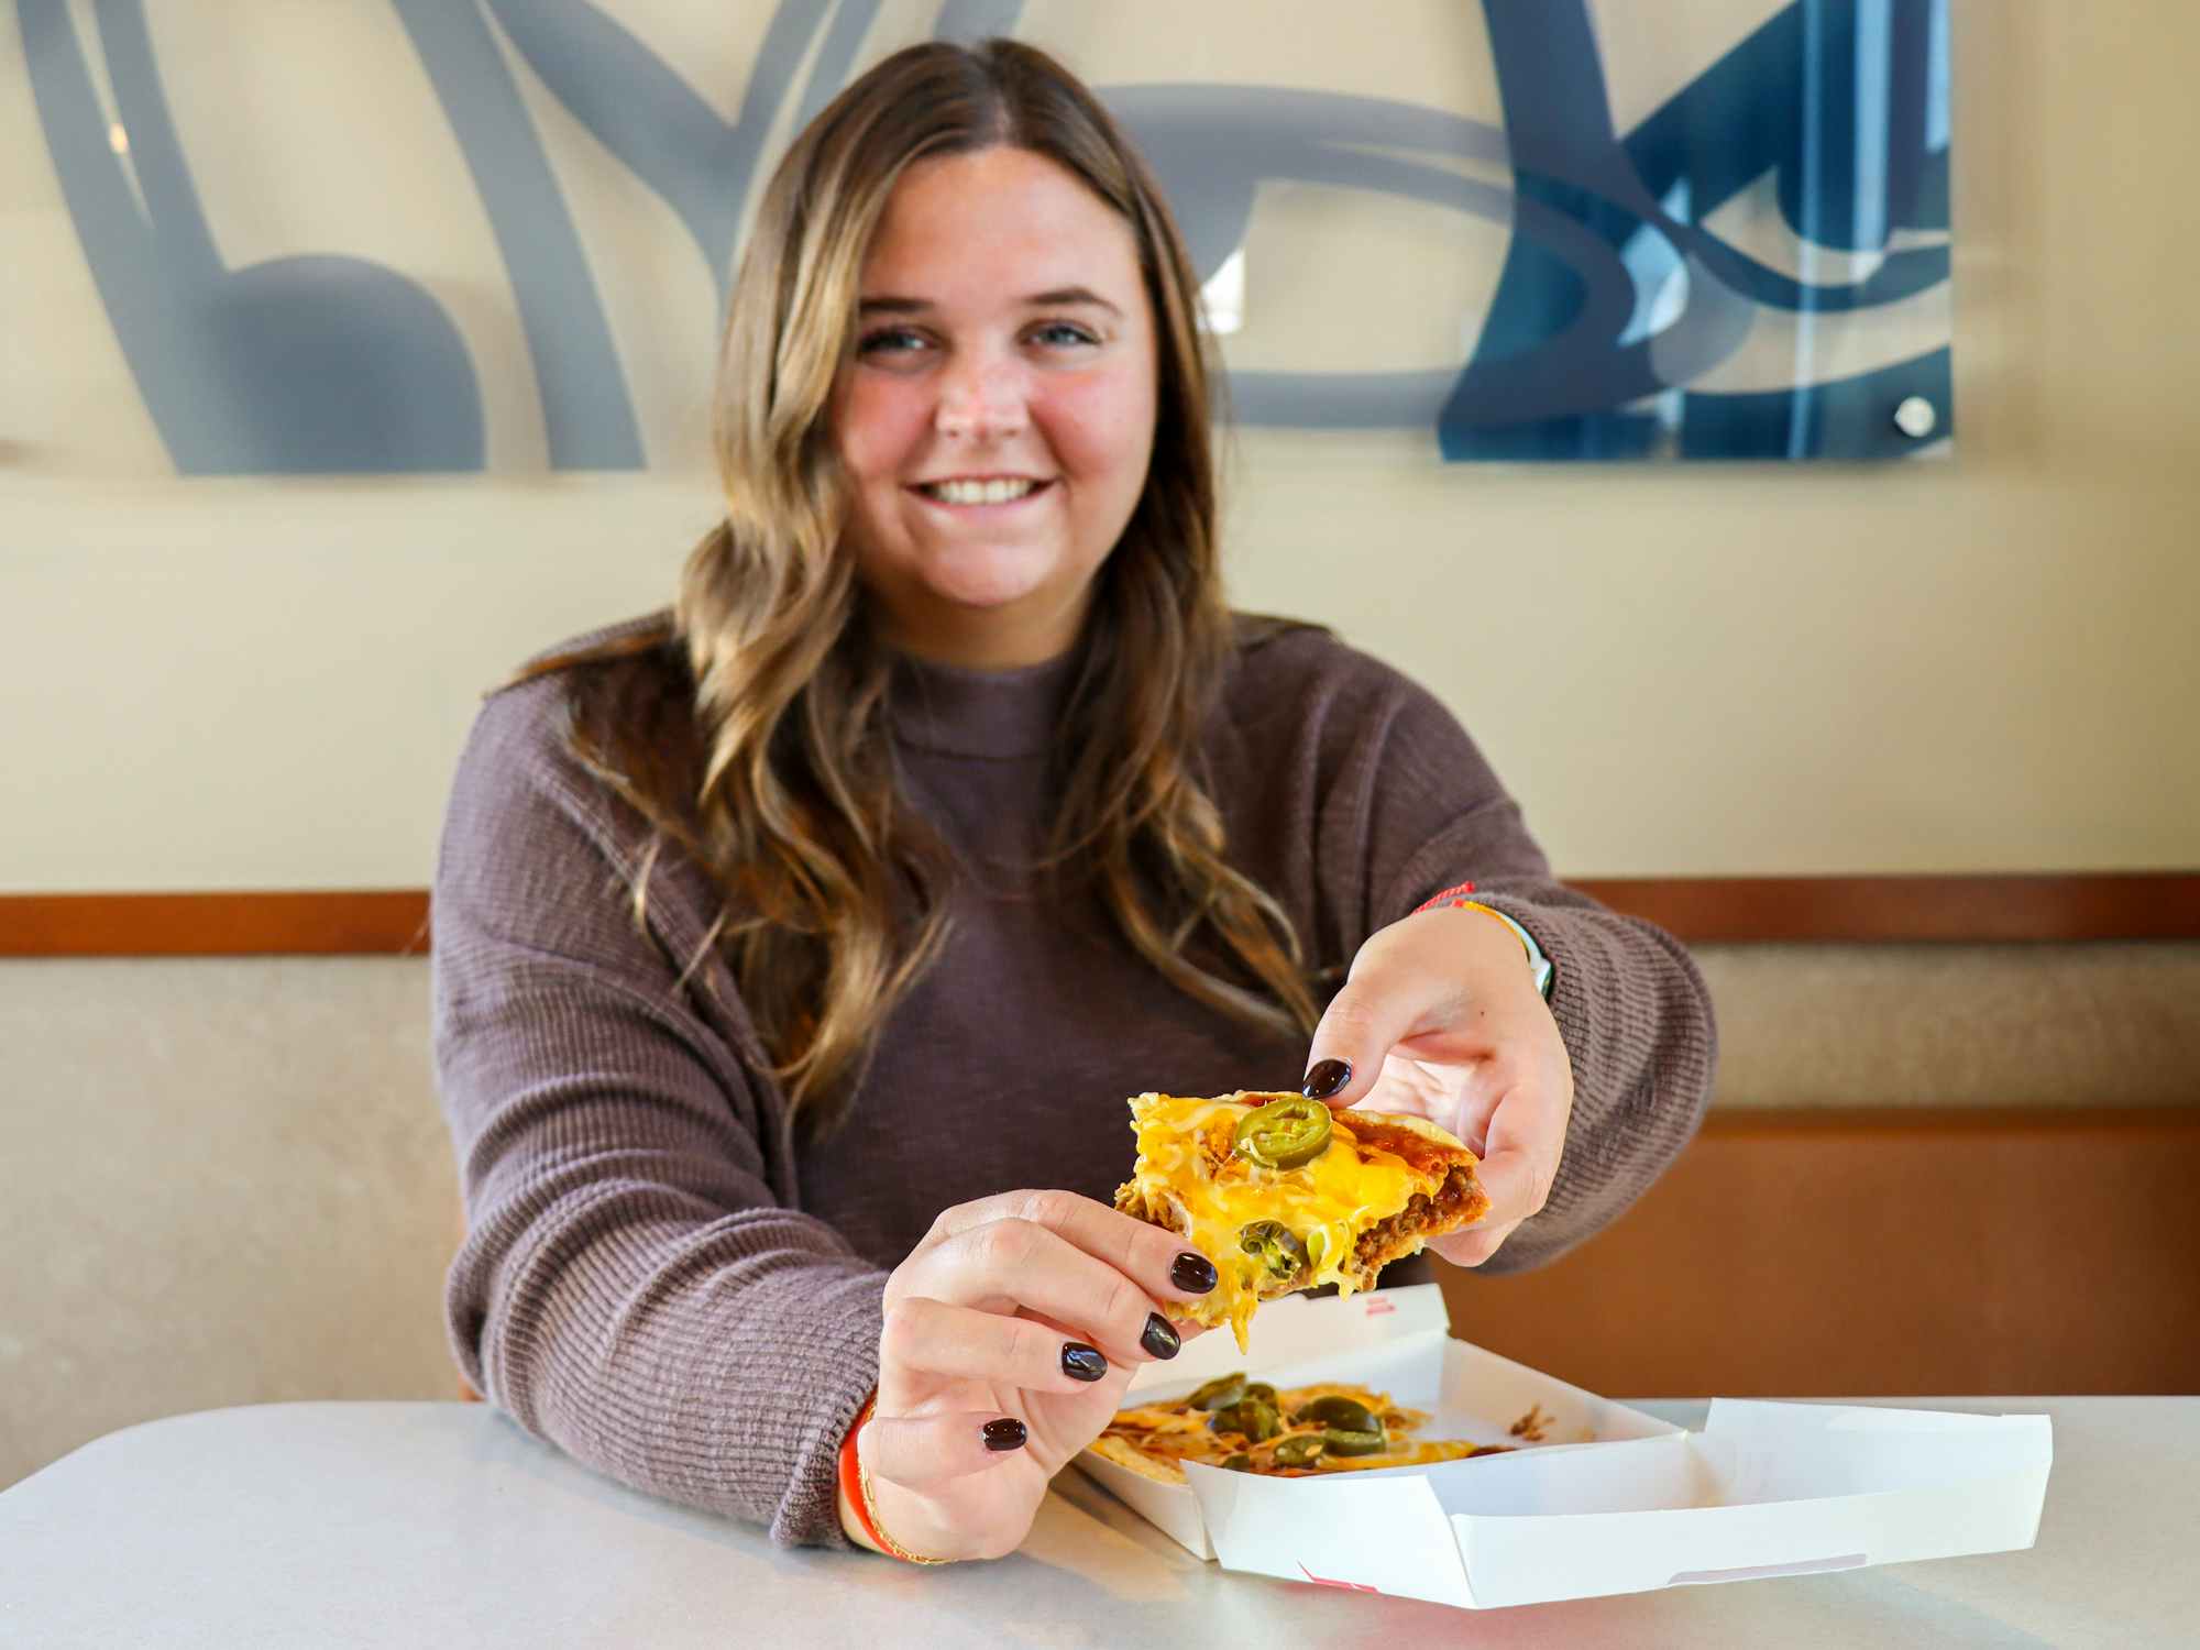
{"label": "cream wall above the wooden trim, behind the woman and blue graphic", "polygon": [[[187,136],[233,121],[240,90],[306,121],[323,75],[304,66],[326,70],[328,35],[389,51],[361,13],[286,15],[273,40],[231,37],[218,73],[178,59]],[[889,7],[871,51],[928,15]],[[1100,81],[1164,59],[1382,90],[1397,53],[1355,53],[1344,15],[1032,4],[1025,33]],[[1474,15],[1415,4],[1395,26]],[[163,40],[180,18],[156,15]],[[1489,469],[1443,466],[1421,436],[1243,436],[1239,598],[1324,618],[1434,686],[1566,873],[2200,862],[2200,213],[2185,209],[2200,9],[1956,0],[1954,18],[1954,464]],[[493,405],[504,469],[486,477],[117,480],[97,444],[51,438],[70,396],[112,389],[121,365],[11,35],[0,81],[18,81],[0,97],[0,178],[31,229],[29,308],[70,341],[66,383],[18,356],[24,394],[0,427],[0,889],[427,882],[473,693],[537,645],[656,605],[708,521],[691,466],[706,282],[671,273],[662,209],[620,196],[530,90],[587,231],[664,277],[656,310],[631,268],[605,282],[623,350],[673,414],[651,433],[667,473],[541,473],[539,429],[513,422],[526,407]],[[1261,211],[1305,229],[1313,207]],[[1232,348],[1274,352],[1287,332],[1316,365],[1368,337],[1419,348],[1384,330],[1388,306],[1331,284],[1349,268],[1335,246],[1404,233],[1384,211],[1335,205],[1331,251],[1300,260],[1265,260],[1256,222],[1252,326]],[[513,354],[495,308],[455,301],[484,361]],[[114,453],[147,436],[125,418],[110,433]]]}

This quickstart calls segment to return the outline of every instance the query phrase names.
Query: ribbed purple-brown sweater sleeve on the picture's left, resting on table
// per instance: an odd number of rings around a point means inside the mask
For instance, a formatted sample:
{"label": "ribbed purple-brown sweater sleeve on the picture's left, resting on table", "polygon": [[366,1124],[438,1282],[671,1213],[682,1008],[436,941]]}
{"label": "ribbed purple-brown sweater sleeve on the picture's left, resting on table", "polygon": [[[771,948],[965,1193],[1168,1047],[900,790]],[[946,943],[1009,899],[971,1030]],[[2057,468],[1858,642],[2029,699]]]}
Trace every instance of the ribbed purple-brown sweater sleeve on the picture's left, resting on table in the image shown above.
{"label": "ribbed purple-brown sweater sleeve on the picture's left, resting on table", "polygon": [[627,1485],[840,1542],[834,1459],[878,1377],[884,1274],[783,1206],[777,1089],[638,821],[563,752],[554,680],[493,697],[433,893],[436,1067],[466,1236],[469,1382]]}

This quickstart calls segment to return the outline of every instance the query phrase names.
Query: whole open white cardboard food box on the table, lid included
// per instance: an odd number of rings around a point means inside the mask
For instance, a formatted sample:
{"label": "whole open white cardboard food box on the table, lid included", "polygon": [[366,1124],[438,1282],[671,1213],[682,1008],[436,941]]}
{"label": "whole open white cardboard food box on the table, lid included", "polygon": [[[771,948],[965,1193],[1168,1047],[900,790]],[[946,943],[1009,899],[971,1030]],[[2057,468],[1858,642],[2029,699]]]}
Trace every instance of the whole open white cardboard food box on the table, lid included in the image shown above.
{"label": "whole open white cardboard food box on the table, lid included", "polygon": [[1346,1379],[1434,1410],[1426,1437],[1547,1443],[1333,1478],[1188,1465],[1188,1487],[1085,1452],[1078,1467],[1225,1569],[1465,1608],[1742,1582],[2031,1547],[2053,1434],[2044,1415],[1949,1415],[1714,1399],[1703,1432],[1450,1338],[1437,1285],[1261,1307],[1252,1351],[1201,1335],[1131,1382],[1166,1401],[1243,1368],[1276,1386]]}

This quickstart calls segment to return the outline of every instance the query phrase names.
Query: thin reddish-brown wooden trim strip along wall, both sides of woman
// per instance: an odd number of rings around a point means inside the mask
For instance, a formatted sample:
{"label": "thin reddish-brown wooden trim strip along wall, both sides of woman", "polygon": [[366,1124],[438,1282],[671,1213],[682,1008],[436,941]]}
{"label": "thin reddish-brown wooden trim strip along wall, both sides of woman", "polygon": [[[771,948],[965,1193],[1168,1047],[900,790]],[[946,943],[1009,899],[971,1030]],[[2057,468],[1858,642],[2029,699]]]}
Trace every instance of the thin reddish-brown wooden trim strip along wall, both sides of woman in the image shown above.
{"label": "thin reddish-brown wooden trim strip along wall, both sides of woman", "polygon": [[[1687,944],[2200,939],[2200,873],[1586,878]],[[427,950],[425,889],[0,893],[0,957]]]}

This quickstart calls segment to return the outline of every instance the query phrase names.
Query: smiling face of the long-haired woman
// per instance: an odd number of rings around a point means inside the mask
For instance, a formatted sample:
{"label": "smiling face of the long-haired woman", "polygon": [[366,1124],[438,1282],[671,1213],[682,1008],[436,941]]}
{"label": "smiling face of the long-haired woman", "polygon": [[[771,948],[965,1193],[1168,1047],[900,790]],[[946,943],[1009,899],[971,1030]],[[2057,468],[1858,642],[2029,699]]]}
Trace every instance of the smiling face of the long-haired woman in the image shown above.
{"label": "smiling face of the long-haired woman", "polygon": [[986,669],[1067,651],[1146,486],[1155,394],[1122,216],[1030,150],[909,167],[832,400],[889,640]]}

